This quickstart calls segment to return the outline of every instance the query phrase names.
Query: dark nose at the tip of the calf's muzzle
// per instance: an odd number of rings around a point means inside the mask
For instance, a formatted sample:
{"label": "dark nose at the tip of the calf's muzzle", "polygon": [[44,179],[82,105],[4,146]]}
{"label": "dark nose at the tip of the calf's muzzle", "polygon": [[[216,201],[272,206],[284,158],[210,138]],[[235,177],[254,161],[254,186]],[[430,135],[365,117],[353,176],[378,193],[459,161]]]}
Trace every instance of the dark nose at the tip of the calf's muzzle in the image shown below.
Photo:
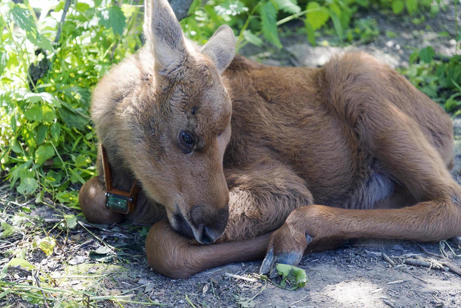
{"label": "dark nose at the tip of the calf's muzzle", "polygon": [[203,244],[214,243],[223,233],[229,210],[207,206],[195,206],[190,211],[190,218],[195,225],[195,239]]}

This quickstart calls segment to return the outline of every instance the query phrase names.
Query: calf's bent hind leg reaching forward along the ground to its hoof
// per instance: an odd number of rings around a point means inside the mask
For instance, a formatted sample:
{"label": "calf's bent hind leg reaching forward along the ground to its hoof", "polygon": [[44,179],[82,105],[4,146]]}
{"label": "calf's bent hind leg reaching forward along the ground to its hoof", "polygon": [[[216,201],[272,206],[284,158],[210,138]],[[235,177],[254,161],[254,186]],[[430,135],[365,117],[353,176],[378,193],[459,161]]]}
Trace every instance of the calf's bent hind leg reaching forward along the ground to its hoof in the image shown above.
{"label": "calf's bent hind leg reaching forward along the ground to its hoof", "polygon": [[308,245],[324,238],[436,242],[461,235],[461,187],[445,161],[413,119],[384,98],[375,101],[382,104],[362,114],[361,135],[384,169],[417,203],[398,209],[296,208],[272,233],[261,272],[276,275],[276,263],[296,264]]}

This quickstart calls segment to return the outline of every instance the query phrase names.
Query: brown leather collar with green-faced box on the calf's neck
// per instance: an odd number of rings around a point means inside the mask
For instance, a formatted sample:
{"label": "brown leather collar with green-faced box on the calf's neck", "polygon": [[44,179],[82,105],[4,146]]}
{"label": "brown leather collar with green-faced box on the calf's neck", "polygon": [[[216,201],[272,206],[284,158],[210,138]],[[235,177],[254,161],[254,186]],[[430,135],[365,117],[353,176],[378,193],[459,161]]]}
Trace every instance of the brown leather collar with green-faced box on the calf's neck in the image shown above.
{"label": "brown leather collar with green-faced box on the calf's neck", "polygon": [[111,168],[107,159],[107,152],[101,144],[102,169],[104,171],[104,182],[106,184],[106,202],[104,206],[107,210],[117,213],[129,214],[133,212],[136,205],[138,193],[138,180],[131,186],[130,191],[117,190],[112,187]]}

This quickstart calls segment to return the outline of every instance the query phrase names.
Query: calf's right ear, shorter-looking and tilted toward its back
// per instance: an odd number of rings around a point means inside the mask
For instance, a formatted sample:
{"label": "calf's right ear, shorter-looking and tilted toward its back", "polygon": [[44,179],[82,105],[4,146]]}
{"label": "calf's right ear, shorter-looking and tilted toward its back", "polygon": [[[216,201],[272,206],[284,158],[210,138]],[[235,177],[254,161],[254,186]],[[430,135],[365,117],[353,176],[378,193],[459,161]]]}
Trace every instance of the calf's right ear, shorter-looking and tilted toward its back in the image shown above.
{"label": "calf's right ear, shorter-looking and tilted toward its back", "polygon": [[231,27],[222,25],[214,32],[208,42],[203,45],[200,52],[213,60],[219,74],[231,64],[235,56],[236,38]]}

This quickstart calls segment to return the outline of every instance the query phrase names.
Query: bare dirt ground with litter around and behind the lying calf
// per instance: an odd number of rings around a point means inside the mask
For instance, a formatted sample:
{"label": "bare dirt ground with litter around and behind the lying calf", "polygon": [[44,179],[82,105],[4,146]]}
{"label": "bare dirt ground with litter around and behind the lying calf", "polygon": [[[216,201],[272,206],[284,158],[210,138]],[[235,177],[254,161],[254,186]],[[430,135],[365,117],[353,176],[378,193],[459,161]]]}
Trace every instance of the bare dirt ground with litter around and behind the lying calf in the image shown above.
{"label": "bare dirt ground with litter around and behind the lying calf", "polygon": [[[370,44],[346,49],[366,50],[392,66],[408,65],[408,56],[414,48],[427,44],[438,52],[454,53],[454,42],[437,35],[440,31],[453,34],[453,5],[419,25],[378,12],[366,15],[377,21],[379,36]],[[389,31],[393,33],[392,37],[389,37]],[[241,53],[272,65],[316,66],[325,63],[331,53],[342,50],[325,46],[313,48],[305,36],[296,33],[284,37],[282,42],[285,47],[281,51],[248,46]],[[452,174],[461,183],[461,120],[455,119],[454,124],[456,165]],[[16,200],[20,205],[24,203],[8,187],[6,183],[0,184],[0,215],[5,215],[4,219],[11,219],[21,208],[7,200]],[[96,296],[125,293],[131,302],[120,303],[124,307],[141,307],[142,304],[135,302],[149,300],[168,307],[461,307],[461,276],[446,270],[446,266],[434,268],[443,260],[425,254],[411,242],[355,241],[341,249],[307,255],[299,267],[306,270],[308,283],[293,291],[254,278],[251,274],[258,272],[261,261],[212,268],[185,280],[165,278],[146,263],[144,241],[148,227],[89,225],[78,216],[85,227],[77,224],[68,232],[60,227],[52,230],[62,219],[62,216],[55,216],[61,215],[60,211],[79,213],[65,205],[36,204],[30,214],[19,215],[18,225],[24,221],[27,223],[21,225],[24,226],[22,230],[3,238],[7,243],[0,242],[0,267],[11,259],[11,252],[27,248],[24,249],[25,259],[40,268],[41,275],[47,277],[44,281],[50,285],[53,283],[56,288],[75,292],[91,291]],[[45,237],[46,232],[57,243],[49,256],[33,245]],[[429,252],[441,254],[439,243],[420,244]],[[104,263],[93,260],[94,251],[104,245],[120,249],[117,252],[120,260],[110,252],[102,255],[109,259]],[[461,255],[461,247],[452,243],[450,246]],[[448,247],[445,251],[451,261],[461,267],[461,257],[455,257]],[[396,263],[394,267],[384,261],[383,253]],[[405,264],[408,259],[421,257],[432,258],[433,267]],[[226,273],[246,279],[231,278]],[[23,276],[27,274],[13,269],[8,270],[7,279],[11,281]],[[24,296],[9,295],[6,298],[0,299],[0,307],[34,306]],[[95,302],[90,305],[94,307]],[[102,299],[98,305],[112,307],[118,303]]]}

